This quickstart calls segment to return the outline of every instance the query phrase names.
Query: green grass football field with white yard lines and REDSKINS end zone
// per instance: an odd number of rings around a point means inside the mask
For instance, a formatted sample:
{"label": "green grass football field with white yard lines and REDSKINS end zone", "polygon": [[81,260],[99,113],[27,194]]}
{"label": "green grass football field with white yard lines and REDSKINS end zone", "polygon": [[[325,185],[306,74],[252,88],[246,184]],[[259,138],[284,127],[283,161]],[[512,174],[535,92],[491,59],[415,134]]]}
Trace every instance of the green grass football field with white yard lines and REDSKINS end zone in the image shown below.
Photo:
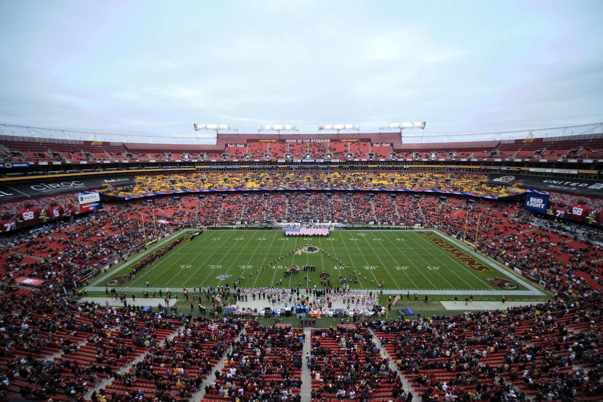
{"label": "green grass football field with white yard lines and REDSKINS end zone", "polygon": [[[431,233],[431,234],[430,234]],[[291,254],[274,266],[270,262],[281,255],[314,244],[316,253]],[[324,253],[326,251],[327,254]],[[328,254],[330,253],[330,257]],[[339,258],[349,269],[338,265]],[[109,275],[131,272],[130,267],[144,256],[128,261],[128,265]],[[297,275],[283,277],[284,266],[315,265],[315,272],[300,271]],[[262,271],[262,265],[265,269]],[[256,274],[256,269],[259,274]],[[216,230],[204,231],[201,236],[176,247],[169,254],[140,271],[128,281],[128,291],[146,288],[166,288],[177,291],[186,287],[219,286],[239,277],[239,286],[279,286],[286,288],[306,286],[320,287],[320,271],[329,271],[333,286],[339,284],[339,275],[346,275],[350,288],[376,291],[377,283],[384,281],[384,294],[415,292],[419,297],[450,300],[458,296],[464,299],[473,294],[479,300],[507,298],[543,300],[545,292],[526,283],[508,268],[489,262],[479,253],[437,231],[420,234],[416,231],[332,231],[329,237],[285,237],[283,231],[264,230]],[[358,283],[353,283],[354,272]],[[306,275],[308,276],[305,280]],[[365,278],[366,277],[366,278]],[[280,285],[280,280],[282,285]],[[310,285],[311,279],[311,285]],[[108,278],[97,281],[95,286],[106,286]],[[109,283],[110,285],[110,283]],[[116,286],[116,289],[125,289]]]}

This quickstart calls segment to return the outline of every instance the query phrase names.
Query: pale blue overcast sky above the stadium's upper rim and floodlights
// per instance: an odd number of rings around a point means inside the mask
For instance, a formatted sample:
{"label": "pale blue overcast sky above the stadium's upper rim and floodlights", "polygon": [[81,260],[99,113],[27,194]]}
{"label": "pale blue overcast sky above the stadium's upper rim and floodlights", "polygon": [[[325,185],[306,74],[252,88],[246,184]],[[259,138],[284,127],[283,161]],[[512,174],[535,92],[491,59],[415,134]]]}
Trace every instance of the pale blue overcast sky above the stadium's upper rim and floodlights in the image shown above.
{"label": "pale blue overcast sky above the stadium's upper rim and floodlights", "polygon": [[0,14],[1,124],[191,136],[195,122],[603,122],[601,0],[26,0]]}

